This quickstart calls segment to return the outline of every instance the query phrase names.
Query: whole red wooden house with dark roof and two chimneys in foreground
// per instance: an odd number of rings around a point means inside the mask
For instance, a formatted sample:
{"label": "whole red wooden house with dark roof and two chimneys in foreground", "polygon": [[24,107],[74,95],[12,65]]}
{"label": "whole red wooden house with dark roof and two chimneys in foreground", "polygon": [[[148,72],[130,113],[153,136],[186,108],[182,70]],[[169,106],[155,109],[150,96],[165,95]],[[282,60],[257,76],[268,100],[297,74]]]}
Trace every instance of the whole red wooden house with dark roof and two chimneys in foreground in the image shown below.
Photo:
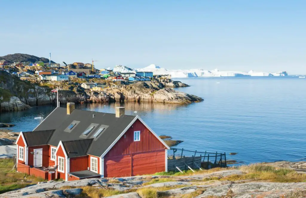
{"label": "whole red wooden house with dark roof and two chimneys in foreground", "polygon": [[16,141],[17,171],[48,180],[124,177],[167,171],[167,149],[138,116],[57,107]]}

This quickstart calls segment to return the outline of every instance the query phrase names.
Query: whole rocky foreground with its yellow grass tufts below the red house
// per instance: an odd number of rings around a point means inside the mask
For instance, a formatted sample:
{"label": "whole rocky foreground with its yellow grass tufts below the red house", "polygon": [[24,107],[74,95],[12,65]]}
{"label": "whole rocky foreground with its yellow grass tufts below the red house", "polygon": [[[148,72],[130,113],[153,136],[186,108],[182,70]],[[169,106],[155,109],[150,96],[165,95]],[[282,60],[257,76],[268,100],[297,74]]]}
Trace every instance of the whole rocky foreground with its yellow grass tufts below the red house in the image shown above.
{"label": "whole rocky foreground with its yellow grass tufts below the red house", "polygon": [[[304,198],[306,196],[306,182],[282,180],[298,177],[301,174],[286,173],[288,172],[286,169],[274,169],[270,165],[272,164],[229,169],[215,168],[176,176],[145,175],[123,178],[92,178],[68,182],[38,182],[37,185],[3,193],[0,198]],[[284,173],[277,182],[269,181],[270,178],[248,178],[247,176],[252,175],[252,171],[256,169],[260,169],[257,170],[257,174],[262,175],[280,171]]]}

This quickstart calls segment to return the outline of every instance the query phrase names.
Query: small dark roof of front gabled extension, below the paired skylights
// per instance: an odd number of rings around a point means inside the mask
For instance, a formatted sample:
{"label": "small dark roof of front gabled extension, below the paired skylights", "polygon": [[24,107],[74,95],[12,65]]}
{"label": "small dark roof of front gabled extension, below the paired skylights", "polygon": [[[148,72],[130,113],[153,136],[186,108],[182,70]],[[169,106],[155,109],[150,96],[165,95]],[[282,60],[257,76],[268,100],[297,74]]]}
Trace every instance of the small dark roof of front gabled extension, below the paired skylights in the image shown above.
{"label": "small dark roof of front gabled extension, below the paired skylights", "polygon": [[93,139],[91,138],[64,141],[63,146],[68,157],[80,157],[87,155],[87,151],[91,145],[92,140]]}

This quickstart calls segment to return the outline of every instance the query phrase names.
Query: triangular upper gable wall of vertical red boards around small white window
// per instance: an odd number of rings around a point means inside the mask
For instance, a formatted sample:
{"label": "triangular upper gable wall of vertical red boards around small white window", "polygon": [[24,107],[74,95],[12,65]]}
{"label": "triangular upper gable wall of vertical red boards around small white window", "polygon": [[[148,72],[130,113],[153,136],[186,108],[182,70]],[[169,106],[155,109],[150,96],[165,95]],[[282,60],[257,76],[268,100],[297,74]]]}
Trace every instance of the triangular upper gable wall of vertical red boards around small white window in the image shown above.
{"label": "triangular upper gable wall of vertical red boards around small white window", "polygon": [[[140,141],[134,141],[134,131],[140,131]],[[151,152],[165,149],[159,141],[139,120],[125,132],[105,157]]]}

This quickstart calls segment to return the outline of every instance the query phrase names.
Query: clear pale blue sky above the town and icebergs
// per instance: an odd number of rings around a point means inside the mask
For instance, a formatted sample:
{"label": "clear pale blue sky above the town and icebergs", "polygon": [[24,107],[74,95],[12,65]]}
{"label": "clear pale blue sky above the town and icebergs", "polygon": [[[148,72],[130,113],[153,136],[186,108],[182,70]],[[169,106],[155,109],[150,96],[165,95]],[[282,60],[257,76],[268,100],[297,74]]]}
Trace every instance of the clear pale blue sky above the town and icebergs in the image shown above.
{"label": "clear pale blue sky above the town and icebergs", "polygon": [[306,74],[306,1],[1,0],[0,56]]}

